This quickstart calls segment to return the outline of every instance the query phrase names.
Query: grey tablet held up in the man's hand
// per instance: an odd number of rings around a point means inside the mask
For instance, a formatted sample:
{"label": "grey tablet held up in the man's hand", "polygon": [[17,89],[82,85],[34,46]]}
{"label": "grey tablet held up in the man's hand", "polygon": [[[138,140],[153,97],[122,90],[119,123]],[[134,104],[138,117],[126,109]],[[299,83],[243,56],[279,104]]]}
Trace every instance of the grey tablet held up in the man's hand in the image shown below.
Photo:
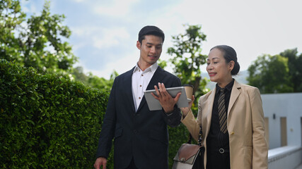
{"label": "grey tablet held up in the man's hand", "polygon": [[[189,100],[187,99],[187,95],[185,94],[185,87],[170,87],[170,88],[165,88],[167,92],[174,98],[179,92],[180,94],[180,99],[178,99],[178,102],[176,103],[179,108],[181,107],[187,107],[189,106]],[[151,92],[155,95],[156,90],[151,89],[151,90],[146,90],[144,92],[144,96],[146,98],[147,104],[149,106],[150,111],[158,111],[161,110],[161,104],[159,103],[158,100],[156,100],[152,95]]]}

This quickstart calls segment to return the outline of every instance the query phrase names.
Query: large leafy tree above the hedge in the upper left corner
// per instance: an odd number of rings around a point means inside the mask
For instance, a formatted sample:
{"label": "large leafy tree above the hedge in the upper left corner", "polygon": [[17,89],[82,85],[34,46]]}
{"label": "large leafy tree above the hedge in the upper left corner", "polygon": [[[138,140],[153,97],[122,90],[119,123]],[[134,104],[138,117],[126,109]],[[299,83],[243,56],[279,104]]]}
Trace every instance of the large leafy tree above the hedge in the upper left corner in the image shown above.
{"label": "large leafy tree above the hedge in the upper left corner", "polygon": [[[41,15],[28,20],[20,1],[0,2],[0,54],[7,61],[33,67],[40,73],[69,73],[76,62],[68,42],[71,31],[62,24],[64,15],[50,15],[45,2]],[[26,20],[26,22],[25,22]]]}

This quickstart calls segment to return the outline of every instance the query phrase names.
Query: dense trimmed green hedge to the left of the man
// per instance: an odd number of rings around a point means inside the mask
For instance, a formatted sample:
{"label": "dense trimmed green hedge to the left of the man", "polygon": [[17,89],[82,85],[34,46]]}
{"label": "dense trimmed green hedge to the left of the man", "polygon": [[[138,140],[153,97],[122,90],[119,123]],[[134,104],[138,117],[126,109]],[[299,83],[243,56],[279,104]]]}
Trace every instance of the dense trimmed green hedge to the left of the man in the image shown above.
{"label": "dense trimmed green hedge to the left of the man", "polygon": [[1,60],[0,168],[93,168],[108,96]]}

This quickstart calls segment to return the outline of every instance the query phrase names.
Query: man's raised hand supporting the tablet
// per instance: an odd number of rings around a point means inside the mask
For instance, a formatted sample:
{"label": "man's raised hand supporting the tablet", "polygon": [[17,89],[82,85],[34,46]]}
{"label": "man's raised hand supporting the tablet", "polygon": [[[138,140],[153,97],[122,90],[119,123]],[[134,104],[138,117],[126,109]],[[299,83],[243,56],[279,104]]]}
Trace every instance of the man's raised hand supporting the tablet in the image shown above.
{"label": "man's raised hand supporting the tablet", "polygon": [[[159,91],[158,91],[159,88]],[[152,96],[159,101],[161,106],[163,107],[163,110],[165,113],[170,113],[174,110],[175,104],[178,102],[178,99],[180,99],[180,94],[179,92],[175,98],[173,98],[165,89],[165,84],[158,82],[158,87],[155,85],[154,89],[156,90],[156,94],[152,94]]]}

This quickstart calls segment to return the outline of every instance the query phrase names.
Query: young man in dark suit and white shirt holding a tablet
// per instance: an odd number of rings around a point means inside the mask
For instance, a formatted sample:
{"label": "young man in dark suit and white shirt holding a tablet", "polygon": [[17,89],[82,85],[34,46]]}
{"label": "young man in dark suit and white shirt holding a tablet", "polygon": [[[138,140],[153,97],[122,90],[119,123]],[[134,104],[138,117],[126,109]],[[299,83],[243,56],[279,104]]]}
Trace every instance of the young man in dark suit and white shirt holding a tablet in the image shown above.
{"label": "young man in dark suit and white shirt holding a tablet", "polygon": [[[180,94],[172,98],[165,87],[179,87],[180,79],[158,66],[165,35],[155,26],[139,32],[139,61],[115,78],[108,101],[94,167],[106,168],[114,138],[115,168],[168,168],[168,128],[180,124]],[[144,91],[156,89],[163,107],[149,111]],[[160,92],[158,92],[158,89]]]}

